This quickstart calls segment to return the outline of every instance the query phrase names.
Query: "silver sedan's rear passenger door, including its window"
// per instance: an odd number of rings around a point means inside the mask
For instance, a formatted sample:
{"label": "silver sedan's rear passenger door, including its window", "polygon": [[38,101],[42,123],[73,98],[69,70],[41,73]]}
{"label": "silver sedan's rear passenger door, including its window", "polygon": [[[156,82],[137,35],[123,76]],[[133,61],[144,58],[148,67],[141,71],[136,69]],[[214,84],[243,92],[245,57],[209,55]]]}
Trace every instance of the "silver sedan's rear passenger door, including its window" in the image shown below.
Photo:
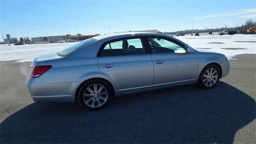
{"label": "silver sedan's rear passenger door, including its window", "polygon": [[115,82],[118,90],[136,90],[152,86],[154,69],[143,38],[121,38],[105,42],[98,56],[100,71]]}

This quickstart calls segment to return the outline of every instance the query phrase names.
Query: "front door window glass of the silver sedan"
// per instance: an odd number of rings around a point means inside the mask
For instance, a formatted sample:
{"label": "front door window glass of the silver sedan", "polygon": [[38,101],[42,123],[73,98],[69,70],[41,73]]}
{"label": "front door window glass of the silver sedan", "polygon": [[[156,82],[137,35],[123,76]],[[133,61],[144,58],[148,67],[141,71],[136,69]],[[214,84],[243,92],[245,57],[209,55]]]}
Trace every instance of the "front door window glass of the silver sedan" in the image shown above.
{"label": "front door window glass of the silver sedan", "polygon": [[171,42],[169,40],[165,40],[162,38],[148,38],[150,43],[150,47],[152,48],[153,54],[160,54],[160,53],[186,53],[186,50]]}

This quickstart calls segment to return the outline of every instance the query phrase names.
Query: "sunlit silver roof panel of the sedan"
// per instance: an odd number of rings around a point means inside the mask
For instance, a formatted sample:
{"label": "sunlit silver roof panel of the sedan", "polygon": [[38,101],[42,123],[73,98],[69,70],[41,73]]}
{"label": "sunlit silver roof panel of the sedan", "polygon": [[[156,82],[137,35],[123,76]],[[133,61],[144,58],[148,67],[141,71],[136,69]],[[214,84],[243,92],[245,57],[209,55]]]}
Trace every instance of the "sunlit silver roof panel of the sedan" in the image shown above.
{"label": "sunlit silver roof panel of the sedan", "polygon": [[[164,34],[157,34],[151,32],[119,32],[114,34],[100,35],[92,37],[95,40],[102,40],[105,38],[115,38],[115,37],[124,37],[124,36],[163,36]],[[164,35],[165,36],[165,35]]]}

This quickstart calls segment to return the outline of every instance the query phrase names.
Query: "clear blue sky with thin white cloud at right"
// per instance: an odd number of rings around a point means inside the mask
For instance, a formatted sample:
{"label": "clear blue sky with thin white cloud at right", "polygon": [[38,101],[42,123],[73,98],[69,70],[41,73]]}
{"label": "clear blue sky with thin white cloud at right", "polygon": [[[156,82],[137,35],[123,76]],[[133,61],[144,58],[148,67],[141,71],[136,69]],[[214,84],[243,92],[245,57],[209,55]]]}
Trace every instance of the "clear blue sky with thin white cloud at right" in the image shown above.
{"label": "clear blue sky with thin white cloud at right", "polygon": [[[175,31],[256,19],[255,0],[0,0],[0,31],[12,37]],[[2,39],[2,38],[1,38]],[[2,41],[2,40],[1,40]]]}

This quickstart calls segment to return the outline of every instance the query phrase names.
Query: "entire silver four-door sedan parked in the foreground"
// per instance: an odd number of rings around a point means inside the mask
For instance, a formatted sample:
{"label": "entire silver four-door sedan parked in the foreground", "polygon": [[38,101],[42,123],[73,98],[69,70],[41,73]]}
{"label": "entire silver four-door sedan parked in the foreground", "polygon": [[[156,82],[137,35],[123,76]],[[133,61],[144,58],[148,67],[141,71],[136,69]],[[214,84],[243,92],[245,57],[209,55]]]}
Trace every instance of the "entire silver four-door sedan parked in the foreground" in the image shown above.
{"label": "entire silver four-door sedan parked in the foreground", "polygon": [[88,110],[112,97],[185,84],[213,88],[228,75],[224,54],[195,50],[164,34],[95,36],[33,61],[27,85],[36,102],[78,102]]}

